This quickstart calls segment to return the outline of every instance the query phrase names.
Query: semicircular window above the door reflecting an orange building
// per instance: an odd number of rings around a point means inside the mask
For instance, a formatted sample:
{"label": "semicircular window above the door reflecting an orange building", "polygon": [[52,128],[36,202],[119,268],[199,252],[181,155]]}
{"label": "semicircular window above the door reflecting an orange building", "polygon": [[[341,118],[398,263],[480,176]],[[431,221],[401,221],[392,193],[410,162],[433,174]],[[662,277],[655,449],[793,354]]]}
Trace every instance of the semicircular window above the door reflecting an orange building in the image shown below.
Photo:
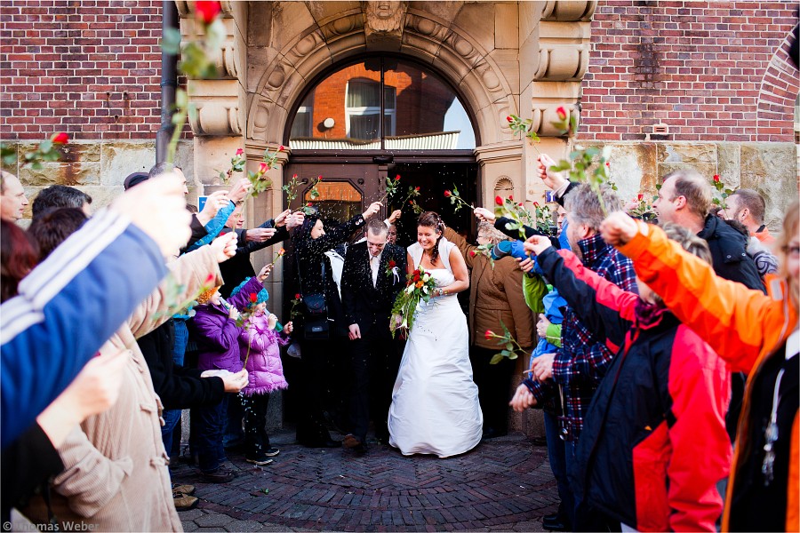
{"label": "semicircular window above the door reflecting an orange building", "polygon": [[375,58],[341,68],[309,92],[294,117],[289,146],[453,150],[472,149],[476,141],[449,85],[412,63]]}

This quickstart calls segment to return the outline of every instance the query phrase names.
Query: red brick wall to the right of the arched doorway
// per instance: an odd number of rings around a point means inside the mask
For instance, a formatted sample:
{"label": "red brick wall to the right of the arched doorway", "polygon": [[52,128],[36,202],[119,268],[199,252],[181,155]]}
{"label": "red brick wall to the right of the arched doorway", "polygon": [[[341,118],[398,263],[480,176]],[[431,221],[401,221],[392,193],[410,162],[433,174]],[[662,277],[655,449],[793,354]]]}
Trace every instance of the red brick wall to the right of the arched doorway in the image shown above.
{"label": "red brick wall to the right of the arched doorway", "polygon": [[601,1],[579,138],[793,141],[796,23],[792,2]]}

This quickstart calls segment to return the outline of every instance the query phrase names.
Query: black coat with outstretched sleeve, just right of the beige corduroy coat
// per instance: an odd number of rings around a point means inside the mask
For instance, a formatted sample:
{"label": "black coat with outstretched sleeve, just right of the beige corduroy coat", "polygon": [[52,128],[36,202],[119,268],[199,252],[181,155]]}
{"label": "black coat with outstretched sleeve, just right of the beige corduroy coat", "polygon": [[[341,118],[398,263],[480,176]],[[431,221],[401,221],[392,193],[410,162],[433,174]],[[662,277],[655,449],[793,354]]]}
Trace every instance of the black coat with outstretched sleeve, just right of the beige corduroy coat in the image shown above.
{"label": "black coat with outstretched sleeve, just right of the beige corduroy coat", "polygon": [[148,362],[153,388],[164,409],[189,409],[216,405],[225,397],[221,378],[201,378],[202,370],[188,369],[172,361],[172,320],[137,339]]}

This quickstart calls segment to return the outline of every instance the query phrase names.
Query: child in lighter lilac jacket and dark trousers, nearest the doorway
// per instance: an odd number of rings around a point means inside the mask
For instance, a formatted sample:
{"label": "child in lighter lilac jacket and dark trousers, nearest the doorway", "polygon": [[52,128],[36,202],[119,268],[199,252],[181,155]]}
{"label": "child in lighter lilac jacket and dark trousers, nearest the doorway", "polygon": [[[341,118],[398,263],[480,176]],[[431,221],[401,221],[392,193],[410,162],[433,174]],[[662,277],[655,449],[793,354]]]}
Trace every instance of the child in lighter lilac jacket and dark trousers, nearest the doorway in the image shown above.
{"label": "child in lighter lilac jacket and dark trousers, nearest the doorway", "polygon": [[[246,290],[250,280],[231,291],[231,296]],[[239,333],[239,353],[248,371],[250,383],[242,390],[244,409],[244,459],[254,465],[268,465],[269,457],[280,450],[269,444],[267,407],[269,394],[289,386],[281,363],[281,346],[289,343],[292,322],[281,330],[275,314],[269,313],[266,289],[250,294],[250,316]],[[244,311],[244,309],[241,309]],[[245,361],[246,360],[246,361]]]}

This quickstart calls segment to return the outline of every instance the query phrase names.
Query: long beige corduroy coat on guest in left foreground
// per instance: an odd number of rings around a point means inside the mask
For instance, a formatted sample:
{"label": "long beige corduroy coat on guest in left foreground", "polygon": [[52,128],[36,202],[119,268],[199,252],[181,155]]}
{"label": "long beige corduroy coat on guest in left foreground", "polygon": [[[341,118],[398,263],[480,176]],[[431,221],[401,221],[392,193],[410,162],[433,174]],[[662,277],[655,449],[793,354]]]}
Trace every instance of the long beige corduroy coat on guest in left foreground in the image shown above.
{"label": "long beige corduroy coat on guest in left foreground", "polygon": [[[92,524],[94,531],[183,529],[172,502],[169,457],[161,440],[161,401],[136,338],[166,322],[168,306],[196,294],[209,274],[218,285],[222,278],[208,246],[169,267],[172,280],[162,282],[100,348],[102,353],[128,348],[132,356],[116,404],[86,419],[59,448],[64,472],[52,482],[51,497],[60,530],[65,530],[64,522]],[[165,301],[174,292],[165,288],[176,282],[182,285],[178,301]],[[42,497],[31,500],[22,512],[34,522],[47,523]]]}

